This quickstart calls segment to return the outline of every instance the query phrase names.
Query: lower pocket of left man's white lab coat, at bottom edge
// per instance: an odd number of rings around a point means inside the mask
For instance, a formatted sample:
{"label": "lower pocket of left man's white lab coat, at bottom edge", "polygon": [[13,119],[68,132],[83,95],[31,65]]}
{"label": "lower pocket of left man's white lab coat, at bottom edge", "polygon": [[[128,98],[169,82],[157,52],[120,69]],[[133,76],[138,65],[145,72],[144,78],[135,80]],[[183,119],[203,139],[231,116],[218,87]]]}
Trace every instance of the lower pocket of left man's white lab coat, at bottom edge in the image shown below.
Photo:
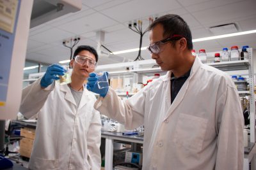
{"label": "lower pocket of left man's white lab coat, at bottom edge", "polygon": [[58,169],[58,167],[58,160],[41,159],[38,157],[35,157],[33,164],[31,164],[31,169]]}

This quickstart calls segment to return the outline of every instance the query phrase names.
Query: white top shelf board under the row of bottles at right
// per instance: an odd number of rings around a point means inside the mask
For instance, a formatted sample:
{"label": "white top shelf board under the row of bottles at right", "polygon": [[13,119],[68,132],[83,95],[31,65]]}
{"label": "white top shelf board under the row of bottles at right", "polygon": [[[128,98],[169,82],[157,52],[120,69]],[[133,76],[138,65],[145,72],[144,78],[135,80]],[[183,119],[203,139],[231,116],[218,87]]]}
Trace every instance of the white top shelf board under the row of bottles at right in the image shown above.
{"label": "white top shelf board under the row of bottles at right", "polygon": [[216,67],[217,69],[220,69],[222,71],[248,69],[250,65],[248,60],[223,61],[206,64],[212,67]]}

